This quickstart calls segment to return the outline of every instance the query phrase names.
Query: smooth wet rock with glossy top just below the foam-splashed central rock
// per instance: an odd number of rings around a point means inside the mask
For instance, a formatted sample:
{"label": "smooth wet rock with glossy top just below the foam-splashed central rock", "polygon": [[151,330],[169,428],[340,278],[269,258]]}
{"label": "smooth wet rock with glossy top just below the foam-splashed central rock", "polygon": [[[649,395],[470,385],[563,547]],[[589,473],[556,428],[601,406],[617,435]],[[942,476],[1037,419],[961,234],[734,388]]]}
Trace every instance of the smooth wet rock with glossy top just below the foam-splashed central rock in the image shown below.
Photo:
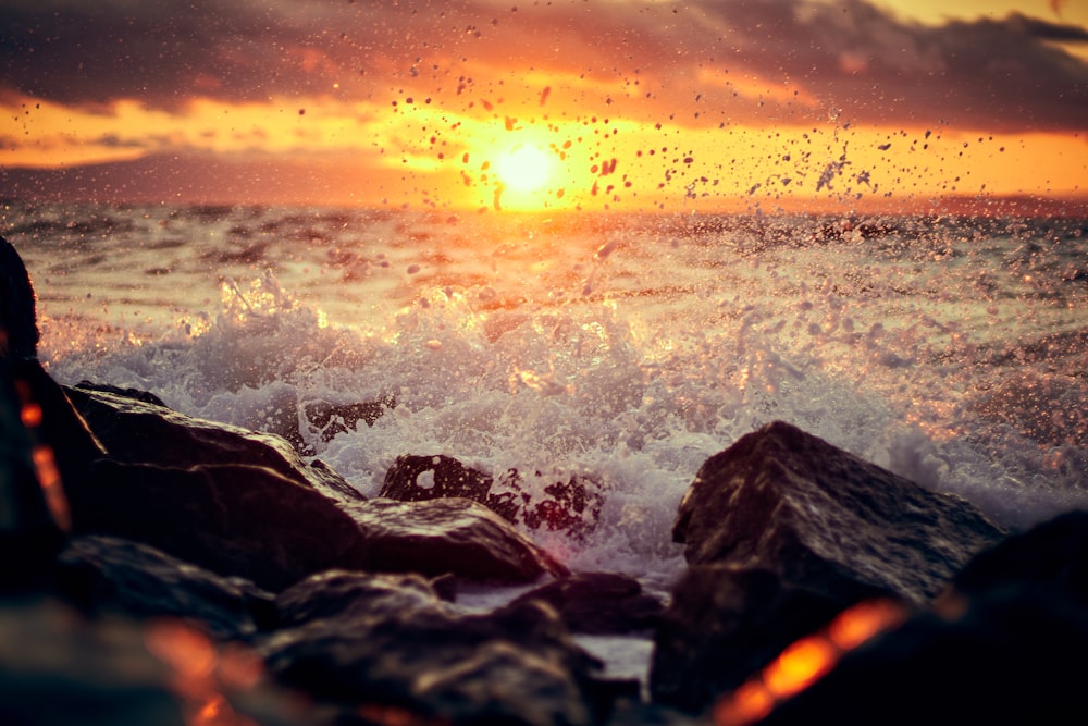
{"label": "smooth wet rock with glossy top just below the foam-splashed central rock", "polygon": [[344,505],[358,524],[368,569],[453,574],[491,582],[533,582],[567,568],[509,522],[466,499],[396,502],[373,499]]}

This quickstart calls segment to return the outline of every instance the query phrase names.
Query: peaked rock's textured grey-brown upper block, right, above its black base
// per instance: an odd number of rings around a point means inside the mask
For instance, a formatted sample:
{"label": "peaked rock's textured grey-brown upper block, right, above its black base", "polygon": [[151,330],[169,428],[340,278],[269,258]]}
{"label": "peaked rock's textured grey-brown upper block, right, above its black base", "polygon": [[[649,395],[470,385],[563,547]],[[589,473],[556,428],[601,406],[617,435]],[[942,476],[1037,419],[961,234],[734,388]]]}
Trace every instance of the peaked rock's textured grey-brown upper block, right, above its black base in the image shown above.
{"label": "peaked rock's textured grey-brown upper block, right, above its black base", "polygon": [[691,565],[763,567],[843,601],[875,587],[915,604],[1003,534],[964,500],[783,422],[707,459],[672,530]]}

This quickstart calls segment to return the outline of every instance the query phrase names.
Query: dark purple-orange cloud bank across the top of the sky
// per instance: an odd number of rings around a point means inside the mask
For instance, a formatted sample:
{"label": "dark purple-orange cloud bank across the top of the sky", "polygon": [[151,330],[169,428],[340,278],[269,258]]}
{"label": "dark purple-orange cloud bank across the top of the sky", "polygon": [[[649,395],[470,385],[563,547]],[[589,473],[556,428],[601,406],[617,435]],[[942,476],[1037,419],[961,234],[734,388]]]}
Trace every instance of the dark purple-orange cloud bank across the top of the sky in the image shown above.
{"label": "dark purple-orange cloud bank across the top of the sky", "polygon": [[1085,40],[1084,27],[1019,14],[926,26],[862,0],[39,0],[0,9],[0,87],[162,107],[336,88],[348,100],[425,93],[460,108],[539,99],[524,78],[547,72],[549,104],[562,100],[560,76],[592,81],[567,90],[592,113],[1084,130],[1088,63],[1055,41]]}

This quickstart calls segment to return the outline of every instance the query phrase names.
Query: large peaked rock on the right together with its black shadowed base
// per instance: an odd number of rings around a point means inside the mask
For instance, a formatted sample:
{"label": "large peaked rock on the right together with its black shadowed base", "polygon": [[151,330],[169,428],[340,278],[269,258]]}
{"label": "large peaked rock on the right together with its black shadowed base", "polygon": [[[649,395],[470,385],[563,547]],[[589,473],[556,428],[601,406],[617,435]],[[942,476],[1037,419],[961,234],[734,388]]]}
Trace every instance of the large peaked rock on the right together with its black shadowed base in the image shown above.
{"label": "large peaked rock on the right together with its black shadowed base", "polygon": [[857,602],[926,606],[1001,538],[959,497],[771,423],[708,459],[681,502],[691,567],[655,635],[654,698],[700,713]]}

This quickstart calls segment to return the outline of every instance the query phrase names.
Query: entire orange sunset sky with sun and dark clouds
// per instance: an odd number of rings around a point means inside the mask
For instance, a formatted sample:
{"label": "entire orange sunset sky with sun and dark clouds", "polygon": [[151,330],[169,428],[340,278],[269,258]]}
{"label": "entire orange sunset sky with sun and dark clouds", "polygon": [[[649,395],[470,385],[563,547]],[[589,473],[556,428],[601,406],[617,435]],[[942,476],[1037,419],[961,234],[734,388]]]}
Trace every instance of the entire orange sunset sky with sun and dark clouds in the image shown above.
{"label": "entire orange sunset sky with sun and dark clouds", "polygon": [[1088,1],[0,0],[0,196],[1088,210]]}

